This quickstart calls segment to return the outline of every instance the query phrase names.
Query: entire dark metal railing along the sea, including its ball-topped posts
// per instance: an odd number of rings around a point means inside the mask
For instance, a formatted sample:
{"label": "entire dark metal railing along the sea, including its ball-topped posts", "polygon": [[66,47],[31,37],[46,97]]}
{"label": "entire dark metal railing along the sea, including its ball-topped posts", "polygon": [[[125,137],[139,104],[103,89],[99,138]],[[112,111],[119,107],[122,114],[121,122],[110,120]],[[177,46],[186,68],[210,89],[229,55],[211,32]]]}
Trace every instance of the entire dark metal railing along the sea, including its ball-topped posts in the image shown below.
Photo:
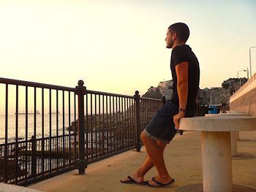
{"label": "entire dark metal railing along the sea, including its ball-topped posts", "polygon": [[[0,182],[28,185],[136,148],[165,99],[0,78]],[[32,109],[32,110],[31,110]],[[21,110],[21,112],[20,112]],[[1,113],[1,111],[0,111]]]}

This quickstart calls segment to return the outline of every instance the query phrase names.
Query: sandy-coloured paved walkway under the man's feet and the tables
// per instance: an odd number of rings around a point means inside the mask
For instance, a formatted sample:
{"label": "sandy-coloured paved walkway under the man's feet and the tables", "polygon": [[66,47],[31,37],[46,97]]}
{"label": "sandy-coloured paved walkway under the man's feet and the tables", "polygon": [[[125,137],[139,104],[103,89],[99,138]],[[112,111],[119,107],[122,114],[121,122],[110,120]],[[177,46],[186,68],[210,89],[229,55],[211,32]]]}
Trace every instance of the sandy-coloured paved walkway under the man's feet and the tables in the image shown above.
{"label": "sandy-coloured paved walkway under the man's feet and the tables", "polygon": [[[256,156],[256,131],[246,131],[238,141],[238,154]],[[48,192],[87,191],[176,191],[183,185],[202,183],[200,132],[184,132],[176,135],[165,150],[165,161],[171,177],[176,183],[168,188],[148,188],[140,185],[125,185],[120,179],[134,172],[146,156],[145,148],[140,153],[130,150],[111,158],[90,164],[86,174],[78,175],[78,170],[67,172],[49,180],[30,185],[29,188]],[[233,183],[256,189],[256,158],[233,160]],[[152,169],[146,180],[157,174]],[[256,191],[256,190],[255,190]]]}

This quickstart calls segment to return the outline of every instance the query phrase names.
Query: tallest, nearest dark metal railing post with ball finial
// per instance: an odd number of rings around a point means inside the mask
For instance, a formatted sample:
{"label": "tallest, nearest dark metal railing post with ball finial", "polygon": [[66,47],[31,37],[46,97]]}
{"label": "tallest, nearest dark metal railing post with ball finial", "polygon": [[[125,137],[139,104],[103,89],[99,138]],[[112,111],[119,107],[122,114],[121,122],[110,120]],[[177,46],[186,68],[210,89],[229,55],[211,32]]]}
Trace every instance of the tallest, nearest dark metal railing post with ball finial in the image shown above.
{"label": "tallest, nearest dark metal railing post with ball finial", "polygon": [[78,170],[79,174],[85,174],[87,167],[85,155],[85,128],[84,128],[84,95],[86,87],[83,86],[83,80],[78,81],[76,94],[78,95]]}

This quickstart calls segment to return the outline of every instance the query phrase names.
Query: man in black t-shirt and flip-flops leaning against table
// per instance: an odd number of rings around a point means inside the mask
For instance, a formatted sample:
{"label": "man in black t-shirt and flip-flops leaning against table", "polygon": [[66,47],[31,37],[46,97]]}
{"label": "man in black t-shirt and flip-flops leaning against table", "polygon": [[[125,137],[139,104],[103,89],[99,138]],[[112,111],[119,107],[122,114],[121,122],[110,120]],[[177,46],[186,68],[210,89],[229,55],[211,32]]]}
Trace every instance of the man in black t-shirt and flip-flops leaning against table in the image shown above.
{"label": "man in black t-shirt and flip-flops leaning against table", "polygon": [[[173,49],[170,59],[173,94],[140,135],[147,152],[145,161],[134,174],[121,180],[121,183],[158,188],[175,182],[167,172],[163,152],[167,143],[175,136],[179,120],[195,115],[200,69],[197,57],[189,45],[185,45],[189,38],[189,28],[185,23],[171,25],[166,36],[166,47]],[[157,168],[158,175],[145,182],[144,176],[153,166]]]}

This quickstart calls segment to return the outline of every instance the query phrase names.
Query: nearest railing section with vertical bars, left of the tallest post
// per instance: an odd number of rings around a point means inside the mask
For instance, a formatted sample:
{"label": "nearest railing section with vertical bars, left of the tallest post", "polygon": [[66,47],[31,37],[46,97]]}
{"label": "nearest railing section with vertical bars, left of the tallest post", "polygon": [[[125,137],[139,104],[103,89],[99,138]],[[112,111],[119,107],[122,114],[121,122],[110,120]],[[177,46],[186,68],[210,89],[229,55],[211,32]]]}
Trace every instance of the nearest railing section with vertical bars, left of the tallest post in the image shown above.
{"label": "nearest railing section with vertical bars, left of the tallest post", "polygon": [[25,185],[75,169],[77,131],[67,127],[77,117],[76,89],[5,78],[0,85],[0,182]]}

